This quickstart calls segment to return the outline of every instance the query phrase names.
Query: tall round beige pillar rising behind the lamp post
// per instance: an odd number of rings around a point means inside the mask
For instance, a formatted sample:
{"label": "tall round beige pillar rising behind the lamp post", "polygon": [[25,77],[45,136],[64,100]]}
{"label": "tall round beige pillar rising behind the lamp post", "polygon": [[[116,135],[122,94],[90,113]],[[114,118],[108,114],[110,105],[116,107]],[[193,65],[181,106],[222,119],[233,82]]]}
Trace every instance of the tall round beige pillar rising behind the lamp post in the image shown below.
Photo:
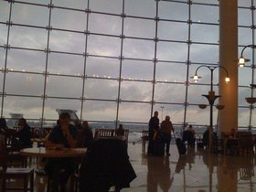
{"label": "tall round beige pillar rising behind the lamp post", "polygon": [[238,127],[238,0],[219,0],[219,133]]}

